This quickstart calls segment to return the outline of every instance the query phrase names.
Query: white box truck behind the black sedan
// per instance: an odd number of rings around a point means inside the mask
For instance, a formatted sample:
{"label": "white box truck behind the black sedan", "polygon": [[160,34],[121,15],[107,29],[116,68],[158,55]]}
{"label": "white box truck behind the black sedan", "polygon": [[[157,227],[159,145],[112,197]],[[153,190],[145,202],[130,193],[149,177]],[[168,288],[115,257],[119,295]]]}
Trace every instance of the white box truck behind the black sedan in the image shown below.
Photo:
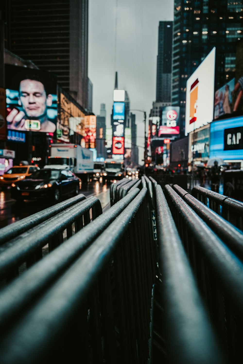
{"label": "white box truck behind the black sedan", "polygon": [[93,177],[93,152],[76,144],[52,144],[44,168],[71,169],[86,181]]}

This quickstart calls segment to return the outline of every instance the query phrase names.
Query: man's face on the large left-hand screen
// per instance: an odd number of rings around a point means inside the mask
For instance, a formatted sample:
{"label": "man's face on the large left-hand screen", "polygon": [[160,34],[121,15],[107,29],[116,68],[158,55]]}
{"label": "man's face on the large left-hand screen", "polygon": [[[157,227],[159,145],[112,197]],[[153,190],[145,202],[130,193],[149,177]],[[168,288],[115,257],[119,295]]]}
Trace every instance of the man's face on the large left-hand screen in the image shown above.
{"label": "man's face on the large left-hand screen", "polygon": [[19,87],[20,102],[29,118],[40,118],[52,105],[52,96],[46,95],[43,83],[36,80],[23,80]]}

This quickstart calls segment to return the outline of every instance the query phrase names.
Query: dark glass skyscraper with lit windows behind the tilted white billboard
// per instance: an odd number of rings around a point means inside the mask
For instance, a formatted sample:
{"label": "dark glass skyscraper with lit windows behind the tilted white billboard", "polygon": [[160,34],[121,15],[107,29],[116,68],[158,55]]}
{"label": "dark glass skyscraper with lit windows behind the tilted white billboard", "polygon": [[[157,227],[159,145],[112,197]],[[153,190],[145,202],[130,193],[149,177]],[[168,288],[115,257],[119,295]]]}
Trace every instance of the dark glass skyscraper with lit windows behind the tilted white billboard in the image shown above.
{"label": "dark glass skyscraper with lit windows behind the tilted white billboard", "polygon": [[223,86],[234,77],[236,42],[242,36],[242,1],[175,0],[172,105],[181,106],[181,132],[188,78],[216,47],[215,89]]}

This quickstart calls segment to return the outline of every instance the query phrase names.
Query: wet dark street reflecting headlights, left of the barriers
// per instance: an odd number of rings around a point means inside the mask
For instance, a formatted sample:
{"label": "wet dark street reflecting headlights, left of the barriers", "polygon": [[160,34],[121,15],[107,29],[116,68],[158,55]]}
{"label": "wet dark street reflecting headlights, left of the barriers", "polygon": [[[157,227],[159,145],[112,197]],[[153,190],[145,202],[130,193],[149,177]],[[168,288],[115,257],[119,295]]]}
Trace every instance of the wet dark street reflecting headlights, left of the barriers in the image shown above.
{"label": "wet dark street reflecting headlights, left of the barriers", "polygon": [[[102,209],[109,202],[109,185],[102,182],[90,182],[88,185],[82,185],[79,193],[86,197],[96,196],[100,199]],[[71,196],[70,196],[71,197]],[[60,199],[60,201],[63,201]],[[24,201],[16,204],[16,201],[10,196],[10,189],[0,191],[0,228],[7,226],[15,221],[21,220],[29,215],[50,207],[49,201]]]}

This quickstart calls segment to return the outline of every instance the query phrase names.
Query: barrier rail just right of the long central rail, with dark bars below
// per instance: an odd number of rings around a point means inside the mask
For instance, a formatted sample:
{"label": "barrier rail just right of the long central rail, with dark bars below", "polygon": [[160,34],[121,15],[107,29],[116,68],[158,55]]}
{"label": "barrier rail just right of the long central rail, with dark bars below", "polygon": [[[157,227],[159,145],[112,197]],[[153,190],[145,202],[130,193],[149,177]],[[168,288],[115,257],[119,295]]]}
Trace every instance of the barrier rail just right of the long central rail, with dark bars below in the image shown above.
{"label": "barrier rail just right of the long central rail, with dark bars below", "polygon": [[227,363],[242,362],[243,264],[183,199],[166,197]]}

